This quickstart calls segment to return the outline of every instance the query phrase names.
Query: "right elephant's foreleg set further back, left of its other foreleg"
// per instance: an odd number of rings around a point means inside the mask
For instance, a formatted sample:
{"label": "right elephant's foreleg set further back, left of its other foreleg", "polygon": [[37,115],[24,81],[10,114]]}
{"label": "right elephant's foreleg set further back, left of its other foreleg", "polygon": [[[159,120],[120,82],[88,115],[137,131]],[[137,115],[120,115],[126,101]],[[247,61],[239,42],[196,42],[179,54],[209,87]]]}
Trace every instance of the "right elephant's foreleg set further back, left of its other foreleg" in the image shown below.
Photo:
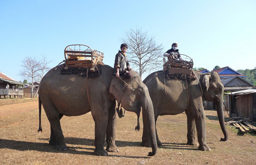
{"label": "right elephant's foreleg set further back, left of its other foreleg", "polygon": [[192,117],[192,113],[190,110],[185,111],[187,115],[187,144],[191,146],[198,146],[196,141],[196,123],[194,118]]}

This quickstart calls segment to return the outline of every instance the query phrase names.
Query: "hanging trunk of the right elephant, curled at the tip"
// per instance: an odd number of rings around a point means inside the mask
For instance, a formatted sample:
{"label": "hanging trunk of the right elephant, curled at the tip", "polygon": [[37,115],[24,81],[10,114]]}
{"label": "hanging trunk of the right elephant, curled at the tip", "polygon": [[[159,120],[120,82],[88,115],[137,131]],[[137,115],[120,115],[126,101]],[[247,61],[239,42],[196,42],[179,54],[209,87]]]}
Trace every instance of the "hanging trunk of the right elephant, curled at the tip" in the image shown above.
{"label": "hanging trunk of the right elephant, curled at the tip", "polygon": [[220,127],[224,134],[224,138],[221,138],[220,141],[227,141],[228,140],[228,132],[226,130],[225,121],[224,121],[223,97],[220,97],[220,99],[218,100],[218,102],[216,104],[216,108],[217,108],[218,119],[220,122]]}

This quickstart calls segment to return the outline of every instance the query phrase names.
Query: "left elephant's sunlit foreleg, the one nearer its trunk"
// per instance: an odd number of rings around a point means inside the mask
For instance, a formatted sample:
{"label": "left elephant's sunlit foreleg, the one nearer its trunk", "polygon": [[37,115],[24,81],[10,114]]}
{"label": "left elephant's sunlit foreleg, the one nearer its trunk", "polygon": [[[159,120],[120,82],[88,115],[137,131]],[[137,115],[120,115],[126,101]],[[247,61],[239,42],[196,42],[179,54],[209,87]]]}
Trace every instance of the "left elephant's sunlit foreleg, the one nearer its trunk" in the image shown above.
{"label": "left elephant's sunlit foreleg, the one nearer its trunk", "polygon": [[113,102],[113,105],[109,109],[109,118],[107,124],[107,151],[109,152],[118,152],[119,148],[116,147],[116,101]]}

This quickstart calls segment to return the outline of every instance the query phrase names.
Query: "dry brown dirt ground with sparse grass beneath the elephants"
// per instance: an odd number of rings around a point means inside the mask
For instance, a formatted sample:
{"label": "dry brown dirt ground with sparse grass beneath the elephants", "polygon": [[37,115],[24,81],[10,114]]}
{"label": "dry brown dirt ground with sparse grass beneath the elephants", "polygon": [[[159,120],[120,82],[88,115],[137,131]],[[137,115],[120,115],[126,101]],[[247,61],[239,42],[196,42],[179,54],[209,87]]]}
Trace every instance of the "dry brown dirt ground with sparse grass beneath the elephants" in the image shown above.
{"label": "dry brown dirt ground with sparse grass beneath the elephants", "polygon": [[255,164],[256,134],[242,134],[227,126],[228,141],[219,141],[221,132],[216,111],[206,112],[206,136],[211,151],[199,151],[186,145],[186,115],[160,116],[157,121],[163,146],[156,156],[148,157],[151,148],[141,147],[141,130],[135,131],[137,116],[127,112],[118,118],[116,145],[120,151],[109,156],[94,156],[94,121],[90,113],[61,120],[69,147],[57,151],[48,144],[50,124],[42,112],[43,132],[38,130],[37,99],[0,99],[0,164]]}

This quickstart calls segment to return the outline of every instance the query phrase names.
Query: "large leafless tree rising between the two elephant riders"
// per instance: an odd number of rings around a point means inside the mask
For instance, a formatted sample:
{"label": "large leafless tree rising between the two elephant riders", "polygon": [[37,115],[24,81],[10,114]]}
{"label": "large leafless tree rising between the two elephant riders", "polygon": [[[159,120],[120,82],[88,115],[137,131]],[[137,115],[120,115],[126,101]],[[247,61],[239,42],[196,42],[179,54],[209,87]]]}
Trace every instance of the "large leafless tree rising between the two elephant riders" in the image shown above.
{"label": "large leafless tree rising between the two elephant riders", "polygon": [[132,68],[139,71],[140,76],[145,72],[159,70],[162,66],[163,45],[157,45],[154,37],[150,37],[147,31],[131,28],[120,40],[128,45],[128,59],[132,63]]}

